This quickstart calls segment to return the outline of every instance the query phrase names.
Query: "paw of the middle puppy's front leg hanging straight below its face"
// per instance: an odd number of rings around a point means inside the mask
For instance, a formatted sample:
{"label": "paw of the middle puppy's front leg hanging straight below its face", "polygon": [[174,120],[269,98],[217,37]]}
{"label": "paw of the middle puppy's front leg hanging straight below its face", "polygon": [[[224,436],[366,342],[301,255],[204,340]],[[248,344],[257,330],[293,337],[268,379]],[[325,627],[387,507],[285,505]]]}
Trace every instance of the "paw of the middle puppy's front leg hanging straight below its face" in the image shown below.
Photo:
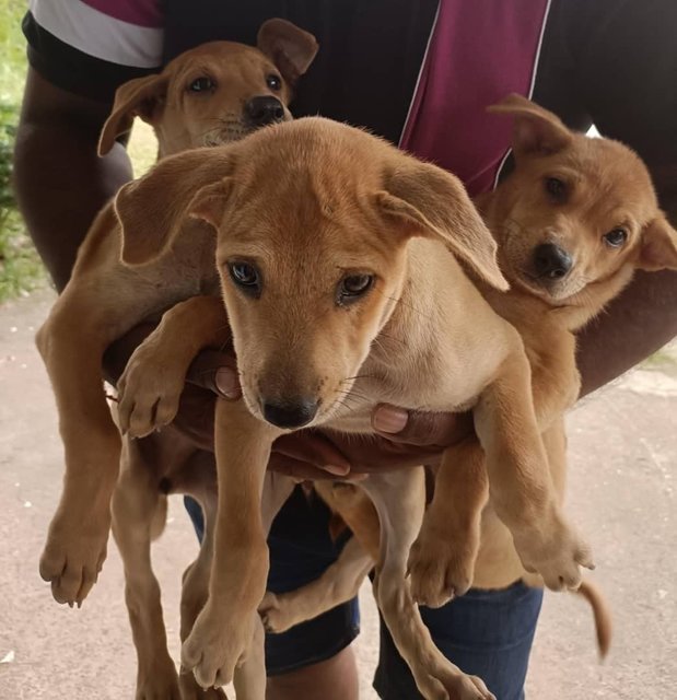
{"label": "paw of the middle puppy's front leg hanging straight below its face", "polygon": [[250,623],[215,611],[208,603],[182,646],[182,667],[192,670],[205,690],[225,686],[233,680],[235,666],[245,661],[252,637]]}

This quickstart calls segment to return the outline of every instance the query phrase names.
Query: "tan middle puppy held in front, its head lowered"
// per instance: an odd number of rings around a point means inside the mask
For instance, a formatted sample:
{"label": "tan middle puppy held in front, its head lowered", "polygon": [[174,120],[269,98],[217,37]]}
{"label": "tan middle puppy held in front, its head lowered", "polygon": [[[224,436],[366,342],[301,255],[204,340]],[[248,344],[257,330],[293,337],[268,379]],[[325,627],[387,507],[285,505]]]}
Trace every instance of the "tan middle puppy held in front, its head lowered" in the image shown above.
{"label": "tan middle puppy held in front, its head lowered", "polygon": [[[267,572],[260,494],[272,441],[311,424],[369,433],[380,401],[474,406],[522,556],[548,581],[579,585],[590,555],[556,502],[520,337],[447,252],[505,289],[495,244],[456,178],[363,131],[303,119],[168,159],[122,188],[116,211],[124,259],[151,268],[185,241],[189,214],[218,229],[244,401],[217,405],[210,595],[183,648],[200,685],[227,682],[252,640]],[[202,296],[172,308],[130,360],[120,418],[133,434],[173,417],[177,395],[167,397],[166,377],[179,377],[178,390],[191,357],[179,336],[214,342],[218,325],[207,334],[190,319],[220,304]],[[148,366],[153,358],[160,380]],[[363,488],[382,523],[376,598],[421,692],[491,697],[434,650],[412,605],[405,573],[422,470],[375,475]]]}

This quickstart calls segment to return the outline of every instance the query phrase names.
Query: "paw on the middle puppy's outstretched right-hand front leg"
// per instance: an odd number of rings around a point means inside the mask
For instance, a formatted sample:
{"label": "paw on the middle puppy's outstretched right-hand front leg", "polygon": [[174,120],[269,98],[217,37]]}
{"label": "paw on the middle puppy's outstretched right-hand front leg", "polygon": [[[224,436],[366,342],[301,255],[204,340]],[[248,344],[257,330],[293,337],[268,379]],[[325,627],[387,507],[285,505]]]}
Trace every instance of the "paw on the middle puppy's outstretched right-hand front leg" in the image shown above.
{"label": "paw on the middle puppy's outstretched right-hand front leg", "polygon": [[533,528],[513,533],[513,539],[523,567],[540,574],[551,591],[577,590],[581,567],[595,568],[590,546],[558,512]]}

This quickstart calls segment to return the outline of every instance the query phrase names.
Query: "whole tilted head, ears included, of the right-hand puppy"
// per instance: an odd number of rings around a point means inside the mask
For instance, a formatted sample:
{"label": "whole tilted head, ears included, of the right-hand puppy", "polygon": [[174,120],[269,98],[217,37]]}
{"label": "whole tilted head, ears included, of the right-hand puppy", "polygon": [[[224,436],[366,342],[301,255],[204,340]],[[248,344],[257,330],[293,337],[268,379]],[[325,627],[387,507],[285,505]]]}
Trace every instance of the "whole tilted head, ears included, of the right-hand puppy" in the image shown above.
{"label": "whole tilted head, ears included, of the right-hand puppy", "polygon": [[526,101],[498,110],[516,121],[515,171],[491,195],[489,214],[511,282],[575,304],[591,285],[615,288],[637,268],[675,265],[677,236],[630,149],[574,135]]}

